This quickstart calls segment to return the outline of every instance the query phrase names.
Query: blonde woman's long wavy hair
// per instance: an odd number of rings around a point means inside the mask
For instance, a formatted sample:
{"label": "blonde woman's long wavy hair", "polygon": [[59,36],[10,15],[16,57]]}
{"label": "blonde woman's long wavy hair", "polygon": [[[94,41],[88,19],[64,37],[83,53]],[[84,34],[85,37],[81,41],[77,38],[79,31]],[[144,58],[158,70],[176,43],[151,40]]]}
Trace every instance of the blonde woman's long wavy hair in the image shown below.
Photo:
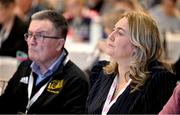
{"label": "blonde woman's long wavy hair", "polygon": [[[161,60],[163,49],[155,21],[143,12],[127,12],[120,19],[124,17],[128,20],[130,41],[134,46],[133,60],[129,65],[129,71],[125,75],[132,79],[133,92],[145,83],[150,73],[148,67],[151,62],[157,60],[162,63],[162,67],[169,71],[171,71],[171,67]],[[113,72],[117,73],[117,68],[117,63],[111,62],[103,69],[106,74],[111,74]]]}

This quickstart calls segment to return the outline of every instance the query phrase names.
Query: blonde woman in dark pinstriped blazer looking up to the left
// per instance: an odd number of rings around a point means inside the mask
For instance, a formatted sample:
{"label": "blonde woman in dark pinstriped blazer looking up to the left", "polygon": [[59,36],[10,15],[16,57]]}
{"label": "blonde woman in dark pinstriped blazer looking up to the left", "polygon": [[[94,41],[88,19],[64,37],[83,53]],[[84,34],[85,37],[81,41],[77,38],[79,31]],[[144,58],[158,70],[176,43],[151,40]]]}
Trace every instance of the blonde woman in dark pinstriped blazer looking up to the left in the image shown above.
{"label": "blonde woman in dark pinstriped blazer looking up to the left", "polygon": [[92,68],[87,113],[158,113],[176,85],[161,61],[154,20],[142,12],[123,14],[107,40],[111,61]]}

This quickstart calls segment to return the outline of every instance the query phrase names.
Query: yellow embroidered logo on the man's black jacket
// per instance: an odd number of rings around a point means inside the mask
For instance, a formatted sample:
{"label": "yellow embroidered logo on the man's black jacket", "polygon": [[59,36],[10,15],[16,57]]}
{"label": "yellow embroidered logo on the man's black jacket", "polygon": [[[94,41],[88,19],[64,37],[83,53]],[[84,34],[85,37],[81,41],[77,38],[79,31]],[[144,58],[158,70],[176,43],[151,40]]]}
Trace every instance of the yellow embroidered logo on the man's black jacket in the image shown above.
{"label": "yellow embroidered logo on the man's black jacket", "polygon": [[63,86],[63,83],[64,80],[52,80],[48,85],[47,91],[58,94],[59,89]]}

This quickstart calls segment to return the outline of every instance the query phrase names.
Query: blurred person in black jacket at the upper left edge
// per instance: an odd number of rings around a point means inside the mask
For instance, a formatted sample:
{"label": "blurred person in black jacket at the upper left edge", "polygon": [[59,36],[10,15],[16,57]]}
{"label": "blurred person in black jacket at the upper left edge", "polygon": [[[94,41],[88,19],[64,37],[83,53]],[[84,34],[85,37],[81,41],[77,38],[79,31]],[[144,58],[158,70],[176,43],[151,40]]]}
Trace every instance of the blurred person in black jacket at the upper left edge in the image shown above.
{"label": "blurred person in black jacket at the upper left edge", "polygon": [[14,0],[0,0],[0,56],[16,57],[17,51],[27,53],[24,33],[28,26],[14,14]]}

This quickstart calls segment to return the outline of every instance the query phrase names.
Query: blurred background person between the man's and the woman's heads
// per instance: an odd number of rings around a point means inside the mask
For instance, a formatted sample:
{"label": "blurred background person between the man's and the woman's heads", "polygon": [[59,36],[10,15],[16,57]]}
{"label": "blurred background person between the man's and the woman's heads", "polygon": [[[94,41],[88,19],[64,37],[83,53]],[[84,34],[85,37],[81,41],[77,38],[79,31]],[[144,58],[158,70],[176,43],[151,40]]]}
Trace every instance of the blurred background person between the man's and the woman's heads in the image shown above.
{"label": "blurred background person between the man's and the woman's heads", "polygon": [[83,12],[86,9],[85,1],[67,0],[65,6],[64,16],[69,24],[68,35],[73,41],[89,42],[92,19]]}

